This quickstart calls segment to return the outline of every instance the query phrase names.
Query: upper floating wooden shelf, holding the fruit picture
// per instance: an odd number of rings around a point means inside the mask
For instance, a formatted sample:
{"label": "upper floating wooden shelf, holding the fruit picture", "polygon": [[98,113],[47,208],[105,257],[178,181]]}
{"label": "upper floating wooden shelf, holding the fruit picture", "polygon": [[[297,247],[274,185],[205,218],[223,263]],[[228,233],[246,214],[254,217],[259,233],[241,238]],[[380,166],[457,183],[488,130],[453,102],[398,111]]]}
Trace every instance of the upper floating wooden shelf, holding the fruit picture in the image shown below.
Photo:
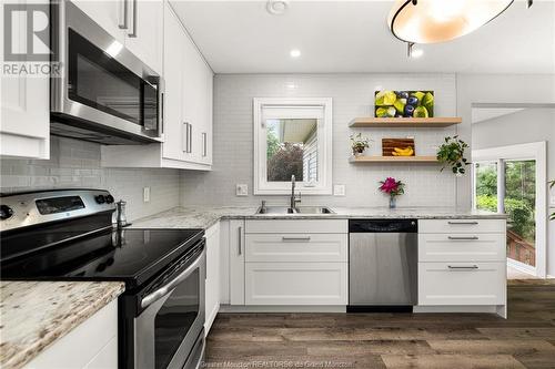
{"label": "upper floating wooden shelf, holding the fruit picture", "polygon": [[460,116],[434,117],[355,117],[349,126],[360,127],[445,127],[462,123]]}

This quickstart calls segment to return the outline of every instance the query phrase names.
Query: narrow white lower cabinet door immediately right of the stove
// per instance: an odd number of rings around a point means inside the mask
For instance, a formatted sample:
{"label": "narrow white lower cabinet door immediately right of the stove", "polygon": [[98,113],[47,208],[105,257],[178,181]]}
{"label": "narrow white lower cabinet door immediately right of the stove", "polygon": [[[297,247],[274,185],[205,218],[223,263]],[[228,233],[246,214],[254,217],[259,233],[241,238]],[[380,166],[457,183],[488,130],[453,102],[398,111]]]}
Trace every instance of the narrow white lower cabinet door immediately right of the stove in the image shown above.
{"label": "narrow white lower cabinet door immediately right of the stove", "polygon": [[204,331],[208,335],[220,310],[220,224],[205,232],[206,279],[204,298]]}

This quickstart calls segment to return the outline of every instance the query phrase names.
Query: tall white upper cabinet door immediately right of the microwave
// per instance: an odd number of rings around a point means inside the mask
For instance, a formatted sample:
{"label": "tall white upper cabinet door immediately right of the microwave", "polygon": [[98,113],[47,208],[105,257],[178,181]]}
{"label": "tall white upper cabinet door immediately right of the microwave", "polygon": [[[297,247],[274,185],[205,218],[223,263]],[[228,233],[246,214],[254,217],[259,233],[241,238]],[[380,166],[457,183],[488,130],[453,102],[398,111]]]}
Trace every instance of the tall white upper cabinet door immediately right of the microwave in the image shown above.
{"label": "tall white upper cabinet door immediately right of the microwave", "polygon": [[164,143],[162,156],[181,161],[185,154],[185,124],[183,122],[183,51],[186,35],[169,3],[164,4]]}

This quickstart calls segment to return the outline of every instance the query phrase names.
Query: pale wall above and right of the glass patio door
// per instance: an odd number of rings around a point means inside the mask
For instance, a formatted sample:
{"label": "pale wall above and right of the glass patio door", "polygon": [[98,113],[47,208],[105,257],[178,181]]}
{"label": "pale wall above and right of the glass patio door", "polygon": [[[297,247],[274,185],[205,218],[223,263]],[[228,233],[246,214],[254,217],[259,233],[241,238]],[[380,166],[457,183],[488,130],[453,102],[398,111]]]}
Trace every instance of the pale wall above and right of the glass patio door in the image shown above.
{"label": "pale wall above and right of the glass patio door", "polygon": [[[475,150],[539,141],[547,141],[547,175],[555,180],[555,107],[525,109],[472,125]],[[555,196],[555,189],[551,195]],[[555,199],[552,206],[555,208]],[[547,233],[547,274],[555,276],[555,221]]]}

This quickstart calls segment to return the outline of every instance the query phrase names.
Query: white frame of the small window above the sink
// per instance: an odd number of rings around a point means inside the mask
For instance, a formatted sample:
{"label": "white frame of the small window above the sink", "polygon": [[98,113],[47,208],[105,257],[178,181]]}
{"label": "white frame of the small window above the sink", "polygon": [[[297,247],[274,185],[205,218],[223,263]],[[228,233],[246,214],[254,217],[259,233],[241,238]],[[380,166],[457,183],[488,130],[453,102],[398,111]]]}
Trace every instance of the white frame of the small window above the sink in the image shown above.
{"label": "white frame of the small window above the sink", "polygon": [[319,121],[319,184],[306,186],[297,183],[297,191],[303,195],[332,194],[332,99],[331,98],[254,98],[254,195],[287,195],[291,193],[291,183],[266,180],[266,132],[262,121],[264,106],[319,106],[323,107],[323,119]]}

